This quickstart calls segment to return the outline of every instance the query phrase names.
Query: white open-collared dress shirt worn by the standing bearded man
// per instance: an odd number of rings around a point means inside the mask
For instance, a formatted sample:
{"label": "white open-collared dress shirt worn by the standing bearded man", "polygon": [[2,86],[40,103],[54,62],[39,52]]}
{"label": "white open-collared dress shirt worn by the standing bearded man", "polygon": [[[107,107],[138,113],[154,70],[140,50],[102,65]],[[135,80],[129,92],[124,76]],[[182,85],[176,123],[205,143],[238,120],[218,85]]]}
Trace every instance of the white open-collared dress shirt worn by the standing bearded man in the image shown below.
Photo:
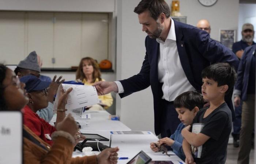
{"label": "white open-collared dress shirt worn by the standing bearded man", "polygon": [[[171,18],[171,28],[168,36],[163,42],[156,39],[160,44],[160,54],[158,57],[158,81],[163,83],[163,97],[167,101],[174,99],[185,91],[195,90],[189,83],[184,70],[182,69],[180,57],[176,44],[176,34],[174,21]],[[124,88],[119,81],[115,81],[118,87],[118,93],[124,93]]]}

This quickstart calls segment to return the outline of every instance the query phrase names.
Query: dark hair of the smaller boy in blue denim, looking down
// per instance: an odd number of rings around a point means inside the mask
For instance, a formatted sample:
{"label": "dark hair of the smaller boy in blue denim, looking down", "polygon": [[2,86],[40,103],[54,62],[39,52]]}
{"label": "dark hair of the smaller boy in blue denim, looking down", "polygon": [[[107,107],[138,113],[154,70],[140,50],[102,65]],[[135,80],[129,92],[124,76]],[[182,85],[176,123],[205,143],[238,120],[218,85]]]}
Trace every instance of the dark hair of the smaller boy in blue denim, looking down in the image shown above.
{"label": "dark hair of the smaller boy in blue denim, looking down", "polygon": [[174,99],[174,108],[187,108],[190,111],[196,106],[201,109],[204,106],[203,96],[197,91],[184,92]]}

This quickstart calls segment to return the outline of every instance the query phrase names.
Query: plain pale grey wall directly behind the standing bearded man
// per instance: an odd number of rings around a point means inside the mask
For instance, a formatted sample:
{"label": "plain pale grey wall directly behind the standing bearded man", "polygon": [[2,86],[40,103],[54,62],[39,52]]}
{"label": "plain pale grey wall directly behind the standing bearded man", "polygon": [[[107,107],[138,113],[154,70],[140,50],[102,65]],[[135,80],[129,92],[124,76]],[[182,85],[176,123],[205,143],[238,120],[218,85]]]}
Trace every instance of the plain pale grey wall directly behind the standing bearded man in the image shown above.
{"label": "plain pale grey wall directly behind the standing bearded man", "polygon": [[[137,74],[145,55],[146,33],[133,9],[140,0],[117,1],[117,79]],[[171,4],[171,0],[167,0]],[[212,38],[219,40],[219,29],[237,29],[239,0],[218,0],[213,7],[203,7],[197,0],[180,0],[181,14],[187,23],[196,25],[199,19],[208,19]],[[154,132],[153,95],[151,89],[133,93],[120,99],[117,96],[117,114],[132,130]]]}

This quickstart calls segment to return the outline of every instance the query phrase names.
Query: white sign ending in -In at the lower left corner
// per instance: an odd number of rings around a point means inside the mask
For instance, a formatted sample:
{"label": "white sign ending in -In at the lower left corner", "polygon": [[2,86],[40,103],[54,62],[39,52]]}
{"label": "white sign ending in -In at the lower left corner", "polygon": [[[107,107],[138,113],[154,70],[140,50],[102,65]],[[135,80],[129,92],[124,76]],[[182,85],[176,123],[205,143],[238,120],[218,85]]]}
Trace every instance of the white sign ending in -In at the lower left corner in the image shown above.
{"label": "white sign ending in -In at the lower left corner", "polygon": [[22,164],[22,113],[0,111],[0,164]]}

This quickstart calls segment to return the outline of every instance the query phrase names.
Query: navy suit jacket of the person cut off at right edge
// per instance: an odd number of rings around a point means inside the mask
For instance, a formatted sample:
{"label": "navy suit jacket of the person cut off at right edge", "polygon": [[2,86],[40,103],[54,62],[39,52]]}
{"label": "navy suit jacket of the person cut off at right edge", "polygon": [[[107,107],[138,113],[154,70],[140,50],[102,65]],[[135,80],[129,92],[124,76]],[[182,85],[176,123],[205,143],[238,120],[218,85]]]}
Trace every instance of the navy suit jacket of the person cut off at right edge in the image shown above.
{"label": "navy suit jacket of the person cut off at right edge", "polygon": [[247,99],[247,89],[249,82],[249,73],[251,69],[252,56],[255,54],[256,46],[250,46],[245,48],[242,55],[238,71],[237,71],[237,82],[235,85],[235,94],[241,94],[241,99]]}

